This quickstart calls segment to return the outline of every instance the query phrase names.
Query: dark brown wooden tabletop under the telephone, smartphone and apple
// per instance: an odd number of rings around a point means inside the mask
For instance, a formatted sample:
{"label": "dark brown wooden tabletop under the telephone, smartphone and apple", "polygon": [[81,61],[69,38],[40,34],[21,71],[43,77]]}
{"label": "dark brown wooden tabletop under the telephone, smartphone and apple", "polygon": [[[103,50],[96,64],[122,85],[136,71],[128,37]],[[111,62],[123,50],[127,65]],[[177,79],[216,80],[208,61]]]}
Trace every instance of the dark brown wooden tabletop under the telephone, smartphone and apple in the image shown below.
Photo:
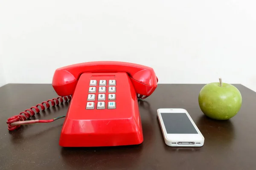
{"label": "dark brown wooden tabletop under the telephone, smartphone and apple", "polygon": [[[140,101],[144,142],[136,146],[62,148],[64,119],[7,130],[6,120],[56,97],[52,86],[8,84],[0,88],[0,170],[255,170],[256,93],[235,85],[242,94],[240,112],[228,121],[207,118],[198,106],[203,85],[160,84]],[[65,115],[68,103],[41,112],[39,119]],[[184,108],[205,137],[203,147],[169,147],[157,120],[158,108]]]}

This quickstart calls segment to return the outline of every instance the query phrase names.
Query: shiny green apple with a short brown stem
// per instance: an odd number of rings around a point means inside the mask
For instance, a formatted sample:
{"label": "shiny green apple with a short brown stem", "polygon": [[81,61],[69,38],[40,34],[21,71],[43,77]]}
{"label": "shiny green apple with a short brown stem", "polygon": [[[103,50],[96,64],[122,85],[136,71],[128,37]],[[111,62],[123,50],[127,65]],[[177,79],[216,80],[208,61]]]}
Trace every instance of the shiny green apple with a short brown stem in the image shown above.
{"label": "shiny green apple with a short brown stem", "polygon": [[201,111],[208,117],[227,120],[235,116],[242,105],[240,91],[233,85],[212,82],[205,85],[198,96]]}

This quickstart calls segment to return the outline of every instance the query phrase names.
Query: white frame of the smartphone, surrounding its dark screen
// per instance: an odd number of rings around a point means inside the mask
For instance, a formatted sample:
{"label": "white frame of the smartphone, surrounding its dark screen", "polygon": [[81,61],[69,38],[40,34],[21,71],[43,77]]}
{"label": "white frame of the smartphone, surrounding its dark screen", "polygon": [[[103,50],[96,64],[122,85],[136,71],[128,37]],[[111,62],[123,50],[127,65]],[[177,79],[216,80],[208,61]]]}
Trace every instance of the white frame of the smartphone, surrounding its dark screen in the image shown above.
{"label": "white frame of the smartphone, surrounding its dark screen", "polygon": [[[188,116],[190,122],[195,127],[195,130],[198,132],[198,134],[172,134],[166,132],[166,127],[163,123],[163,118],[161,116],[161,113],[186,113]],[[164,141],[168,146],[172,147],[201,147],[204,145],[204,136],[198,129],[198,127],[195,125],[195,122],[189,115],[189,113],[182,108],[160,108],[157,109],[157,117],[161,126],[161,130],[163,133]],[[194,142],[194,144],[178,144],[178,142]]]}

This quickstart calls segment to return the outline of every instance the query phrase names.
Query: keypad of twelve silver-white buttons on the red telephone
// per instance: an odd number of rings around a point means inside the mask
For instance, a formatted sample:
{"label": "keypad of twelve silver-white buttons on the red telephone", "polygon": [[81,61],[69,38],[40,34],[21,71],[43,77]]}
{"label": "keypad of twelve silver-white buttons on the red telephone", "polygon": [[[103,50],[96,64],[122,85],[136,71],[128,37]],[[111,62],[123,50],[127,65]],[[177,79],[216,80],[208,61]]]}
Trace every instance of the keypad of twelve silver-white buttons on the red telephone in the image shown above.
{"label": "keypad of twelve silver-white buttons on the red telephone", "polygon": [[[90,80],[86,109],[115,109],[116,80]],[[96,86],[96,87],[91,87]],[[98,86],[98,87],[97,87]],[[97,89],[98,88],[98,89]],[[107,91],[108,88],[108,91]],[[99,94],[92,94],[98,91]],[[107,94],[106,94],[107,93]],[[108,97],[108,98],[107,98]],[[94,101],[94,102],[91,102]],[[96,105],[96,106],[95,106]]]}

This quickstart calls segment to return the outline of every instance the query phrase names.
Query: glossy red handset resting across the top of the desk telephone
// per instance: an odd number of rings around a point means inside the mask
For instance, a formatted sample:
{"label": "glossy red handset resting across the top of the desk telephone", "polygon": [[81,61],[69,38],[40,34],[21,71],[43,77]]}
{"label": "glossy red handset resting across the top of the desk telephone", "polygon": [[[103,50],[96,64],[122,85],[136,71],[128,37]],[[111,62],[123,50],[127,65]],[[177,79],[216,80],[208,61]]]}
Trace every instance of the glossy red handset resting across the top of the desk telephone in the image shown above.
{"label": "glossy red handset resting across the top of the desk telephone", "polygon": [[143,99],[157,88],[158,79],[152,68],[130,62],[99,61],[84,62],[58,68],[52,79],[52,86],[60,96],[74,93],[79,77],[83,73],[117,73],[125,72],[131,77],[138,96]]}

